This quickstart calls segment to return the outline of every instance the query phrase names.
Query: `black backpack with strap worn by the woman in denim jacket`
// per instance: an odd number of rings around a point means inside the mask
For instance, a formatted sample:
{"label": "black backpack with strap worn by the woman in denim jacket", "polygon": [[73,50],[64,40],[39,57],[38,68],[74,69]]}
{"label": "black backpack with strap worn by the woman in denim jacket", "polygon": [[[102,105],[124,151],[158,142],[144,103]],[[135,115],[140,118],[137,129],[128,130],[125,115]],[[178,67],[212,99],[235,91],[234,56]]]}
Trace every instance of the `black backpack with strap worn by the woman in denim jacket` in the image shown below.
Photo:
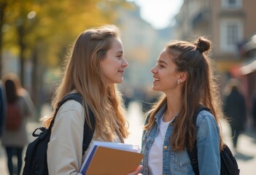
{"label": "black backpack with strap worn by the woman in denim jacket", "polygon": [[[198,109],[195,111],[194,114],[194,124],[196,124],[196,120],[198,117],[199,112],[202,110],[206,110],[210,112],[206,106],[199,106]],[[190,157],[190,162],[193,167],[193,171],[195,175],[199,174],[198,170],[198,148],[196,147],[196,140],[193,144],[193,150],[190,152],[187,149],[187,154]],[[238,164],[236,162],[236,158],[234,158],[232,152],[230,151],[228,145],[225,144],[224,149],[220,152],[220,174],[221,175],[238,175],[240,174],[240,170],[238,168]]]}

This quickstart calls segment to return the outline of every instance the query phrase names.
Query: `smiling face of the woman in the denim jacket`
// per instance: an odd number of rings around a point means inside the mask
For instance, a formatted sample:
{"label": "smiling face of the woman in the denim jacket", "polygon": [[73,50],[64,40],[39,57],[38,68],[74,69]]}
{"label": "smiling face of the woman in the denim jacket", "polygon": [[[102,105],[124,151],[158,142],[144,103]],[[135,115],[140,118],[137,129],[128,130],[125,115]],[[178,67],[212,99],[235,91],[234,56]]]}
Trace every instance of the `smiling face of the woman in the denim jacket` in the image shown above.
{"label": "smiling face of the woman in the denim jacket", "polygon": [[176,65],[172,59],[172,55],[169,55],[168,51],[163,50],[160,53],[157,65],[151,69],[154,79],[153,90],[167,93],[179,87],[177,82],[181,73],[176,71]]}

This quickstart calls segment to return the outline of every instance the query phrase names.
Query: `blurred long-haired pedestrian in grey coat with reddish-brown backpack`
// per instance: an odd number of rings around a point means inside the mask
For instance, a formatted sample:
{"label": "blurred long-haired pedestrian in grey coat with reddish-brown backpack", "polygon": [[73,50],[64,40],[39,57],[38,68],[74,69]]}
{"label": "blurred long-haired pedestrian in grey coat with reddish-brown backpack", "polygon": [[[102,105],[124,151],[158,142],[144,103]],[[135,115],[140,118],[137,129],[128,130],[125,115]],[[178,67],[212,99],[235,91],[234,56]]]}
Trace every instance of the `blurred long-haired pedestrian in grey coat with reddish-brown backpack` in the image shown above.
{"label": "blurred long-haired pedestrian in grey coat with reddish-brown backpack", "polygon": [[[28,91],[21,87],[20,80],[16,74],[5,74],[3,77],[3,82],[7,97],[7,117],[1,143],[7,153],[7,165],[9,174],[20,174],[23,164],[23,148],[26,144],[28,144],[26,117],[34,115],[34,104],[31,101],[31,97],[29,96]],[[12,118],[12,121],[9,121],[10,113],[16,112],[15,108],[8,109],[12,105],[17,106],[16,109],[19,113],[14,114],[18,114],[20,119]],[[18,120],[20,121],[19,123]],[[14,126],[12,127],[12,125],[16,124],[9,124],[12,122],[17,123],[18,128],[14,128]],[[12,163],[12,158],[14,156],[16,156],[18,160],[17,173],[15,173],[14,163]]]}

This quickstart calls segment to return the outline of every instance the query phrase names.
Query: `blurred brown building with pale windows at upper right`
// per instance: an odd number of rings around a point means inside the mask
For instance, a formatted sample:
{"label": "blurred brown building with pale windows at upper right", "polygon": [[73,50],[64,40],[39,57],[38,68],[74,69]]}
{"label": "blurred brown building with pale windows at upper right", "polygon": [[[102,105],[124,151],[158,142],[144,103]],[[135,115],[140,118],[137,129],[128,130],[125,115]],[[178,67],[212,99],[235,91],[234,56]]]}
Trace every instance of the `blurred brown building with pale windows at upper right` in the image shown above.
{"label": "blurred brown building with pale windows at upper right", "polygon": [[221,85],[224,87],[230,77],[241,79],[248,108],[256,77],[241,71],[244,63],[252,59],[242,48],[256,32],[255,5],[255,0],[184,0],[175,17],[174,31],[178,39],[193,41],[197,36],[206,36],[212,40],[212,58],[217,62]]}

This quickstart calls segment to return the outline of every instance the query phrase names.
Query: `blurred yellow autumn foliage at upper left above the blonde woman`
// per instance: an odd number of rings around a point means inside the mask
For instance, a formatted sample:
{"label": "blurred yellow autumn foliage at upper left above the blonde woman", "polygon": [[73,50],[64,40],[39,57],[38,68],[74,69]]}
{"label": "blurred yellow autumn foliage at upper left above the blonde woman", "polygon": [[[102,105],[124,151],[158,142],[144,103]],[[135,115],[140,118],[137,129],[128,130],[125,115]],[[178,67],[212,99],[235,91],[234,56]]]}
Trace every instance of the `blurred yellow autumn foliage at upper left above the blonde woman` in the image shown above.
{"label": "blurred yellow autumn foliage at upper left above the blonde woman", "polygon": [[[25,46],[25,59],[37,50],[39,63],[58,66],[66,47],[77,35],[92,26],[114,23],[115,7],[125,1],[97,0],[1,0],[7,3],[4,14],[3,47],[17,50],[19,35]],[[28,14],[32,14],[28,18]],[[16,49],[15,49],[16,48]]]}

